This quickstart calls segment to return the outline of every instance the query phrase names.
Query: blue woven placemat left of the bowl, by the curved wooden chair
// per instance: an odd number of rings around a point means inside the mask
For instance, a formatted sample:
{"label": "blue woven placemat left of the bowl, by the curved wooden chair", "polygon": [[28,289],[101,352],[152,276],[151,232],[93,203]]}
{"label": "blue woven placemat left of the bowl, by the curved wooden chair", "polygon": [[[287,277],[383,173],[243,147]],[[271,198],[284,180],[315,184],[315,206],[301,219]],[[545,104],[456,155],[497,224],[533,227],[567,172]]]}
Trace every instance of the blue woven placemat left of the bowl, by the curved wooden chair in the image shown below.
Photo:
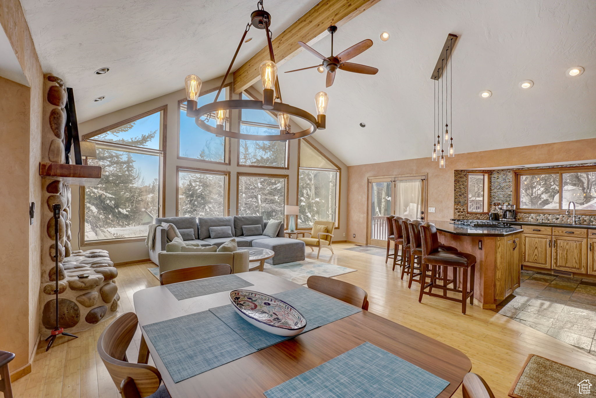
{"label": "blue woven placemat left of the bowl, by the curved wooden chair", "polygon": [[143,327],[174,383],[257,350],[209,311]]}

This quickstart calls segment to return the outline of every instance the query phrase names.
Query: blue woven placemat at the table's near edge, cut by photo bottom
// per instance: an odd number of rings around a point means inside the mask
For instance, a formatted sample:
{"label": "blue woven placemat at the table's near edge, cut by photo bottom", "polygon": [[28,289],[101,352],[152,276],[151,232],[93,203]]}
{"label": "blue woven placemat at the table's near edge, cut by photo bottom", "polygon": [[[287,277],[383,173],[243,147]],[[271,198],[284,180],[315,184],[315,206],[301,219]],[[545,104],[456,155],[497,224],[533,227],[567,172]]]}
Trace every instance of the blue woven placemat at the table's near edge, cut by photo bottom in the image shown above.
{"label": "blue woven placemat at the table's near edge, cut by photo bottom", "polygon": [[371,343],[265,391],[267,398],[436,398],[448,381]]}

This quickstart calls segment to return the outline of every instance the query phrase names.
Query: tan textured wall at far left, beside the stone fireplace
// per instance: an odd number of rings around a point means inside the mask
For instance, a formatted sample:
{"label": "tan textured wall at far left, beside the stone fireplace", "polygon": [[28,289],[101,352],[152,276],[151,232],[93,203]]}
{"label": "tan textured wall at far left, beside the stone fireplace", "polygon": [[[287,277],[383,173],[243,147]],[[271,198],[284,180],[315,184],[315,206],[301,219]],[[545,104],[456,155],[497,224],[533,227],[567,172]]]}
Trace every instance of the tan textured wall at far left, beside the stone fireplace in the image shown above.
{"label": "tan textured wall at far left, beside the stone fireplace", "polygon": [[[27,108],[26,120],[21,120],[19,123],[20,128],[11,129],[7,131],[2,129],[2,164],[8,164],[15,168],[15,173],[4,173],[4,179],[10,179],[10,194],[0,195],[2,208],[5,209],[5,215],[16,217],[15,228],[18,229],[19,233],[23,234],[22,240],[5,240],[2,242],[6,245],[13,245],[14,250],[18,250],[24,257],[21,258],[19,263],[21,273],[22,270],[26,270],[20,280],[23,284],[28,284],[27,289],[18,291],[16,296],[5,295],[4,290],[0,293],[0,301],[10,300],[11,308],[10,313],[5,316],[5,313],[0,312],[0,319],[2,319],[2,329],[11,332],[20,331],[23,333],[21,339],[18,341],[17,346],[4,347],[2,349],[10,349],[17,356],[13,363],[11,363],[11,372],[19,371],[21,368],[26,367],[29,364],[30,358],[35,351],[35,344],[38,340],[38,300],[39,300],[39,282],[41,280],[41,269],[40,269],[40,242],[41,242],[41,231],[43,226],[41,225],[39,217],[36,217],[33,225],[29,225],[29,203],[36,202],[36,205],[42,205],[41,203],[41,178],[39,177],[39,160],[41,158],[41,123],[42,123],[42,92],[44,87],[44,73],[39,63],[38,55],[35,51],[35,45],[33,45],[33,39],[29,32],[29,26],[25,20],[23,9],[18,0],[2,0],[0,1],[0,25],[4,29],[8,40],[13,46],[14,53],[21,65],[21,69],[29,88],[27,89],[27,101],[29,102]],[[24,86],[21,86],[24,87]],[[4,90],[2,92],[3,99],[10,101],[11,97],[5,95]],[[0,109],[2,114],[11,114],[10,110],[14,111],[14,114],[19,114],[18,110],[13,102],[8,104],[2,104]],[[21,109],[22,111],[22,109]],[[5,117],[0,117],[2,125],[4,125]],[[25,123],[27,122],[27,123]],[[5,134],[8,137],[5,139]],[[12,145],[25,145],[24,151],[10,151]],[[15,195],[13,189],[14,185],[21,185],[20,182],[26,184],[26,191],[19,192],[18,197]],[[2,188],[7,184],[4,184]],[[14,185],[13,185],[14,184]],[[9,198],[10,197],[10,198]],[[5,203],[10,201],[11,203]],[[9,205],[12,206],[9,206]],[[10,214],[9,214],[10,213]],[[3,233],[5,231],[2,231]],[[28,252],[27,252],[28,248]],[[4,251],[4,250],[3,250]],[[2,254],[4,255],[4,254]],[[0,260],[2,266],[10,265],[10,262],[4,262]],[[2,281],[13,281],[12,278],[3,273]],[[23,308],[16,309],[15,304],[20,303]],[[10,315],[10,316],[9,316]],[[17,315],[25,316],[27,318],[27,324],[25,327],[17,328]],[[15,322],[15,325],[13,325]],[[22,325],[21,325],[22,326]],[[0,343],[4,340],[0,338]],[[3,345],[3,344],[0,344]],[[26,372],[26,370],[24,371]]]}

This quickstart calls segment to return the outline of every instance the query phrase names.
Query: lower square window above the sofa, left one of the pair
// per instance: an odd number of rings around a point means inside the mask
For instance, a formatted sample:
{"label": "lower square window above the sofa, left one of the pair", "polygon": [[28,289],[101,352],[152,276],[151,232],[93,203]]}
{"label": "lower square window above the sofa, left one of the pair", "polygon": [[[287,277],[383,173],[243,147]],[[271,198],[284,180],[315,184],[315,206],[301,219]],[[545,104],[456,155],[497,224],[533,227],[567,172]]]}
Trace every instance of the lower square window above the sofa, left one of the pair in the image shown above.
{"label": "lower square window above the sofa, left one of the pair", "polygon": [[178,167],[178,216],[228,214],[229,173]]}

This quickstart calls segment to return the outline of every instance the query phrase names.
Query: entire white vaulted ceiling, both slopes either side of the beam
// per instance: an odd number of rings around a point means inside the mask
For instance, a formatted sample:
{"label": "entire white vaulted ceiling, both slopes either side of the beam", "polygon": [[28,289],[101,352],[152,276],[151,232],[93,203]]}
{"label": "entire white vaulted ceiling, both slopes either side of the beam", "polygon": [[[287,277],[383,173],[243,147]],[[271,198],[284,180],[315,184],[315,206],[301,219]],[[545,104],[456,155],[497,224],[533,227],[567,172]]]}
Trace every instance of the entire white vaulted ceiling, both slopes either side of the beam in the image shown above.
{"label": "entire white vaulted ceiling, both slopes either side of the beam", "polygon": [[[45,71],[67,79],[82,120],[182,88],[188,73],[221,76],[252,1],[21,0]],[[266,1],[280,33],[316,1]],[[339,71],[325,88],[317,59],[302,52],[280,67],[284,101],[314,112],[314,95],[329,95],[327,129],[315,138],[344,163],[430,156],[434,64],[448,33],[453,54],[452,133],[457,153],[596,136],[596,2],[594,0],[381,0],[342,26],[336,52],[363,39],[374,45],[353,62],[368,76]],[[387,31],[389,41],[379,39]],[[259,32],[260,33],[260,32]],[[296,38],[299,40],[300,38]],[[243,47],[239,66],[265,45]],[[327,36],[313,48],[330,52]],[[104,66],[109,76],[93,71]],[[581,76],[566,76],[582,66]],[[534,86],[522,90],[522,80]],[[482,90],[492,97],[480,98]],[[100,95],[107,98],[92,102]],[[361,128],[359,123],[365,123]]]}

